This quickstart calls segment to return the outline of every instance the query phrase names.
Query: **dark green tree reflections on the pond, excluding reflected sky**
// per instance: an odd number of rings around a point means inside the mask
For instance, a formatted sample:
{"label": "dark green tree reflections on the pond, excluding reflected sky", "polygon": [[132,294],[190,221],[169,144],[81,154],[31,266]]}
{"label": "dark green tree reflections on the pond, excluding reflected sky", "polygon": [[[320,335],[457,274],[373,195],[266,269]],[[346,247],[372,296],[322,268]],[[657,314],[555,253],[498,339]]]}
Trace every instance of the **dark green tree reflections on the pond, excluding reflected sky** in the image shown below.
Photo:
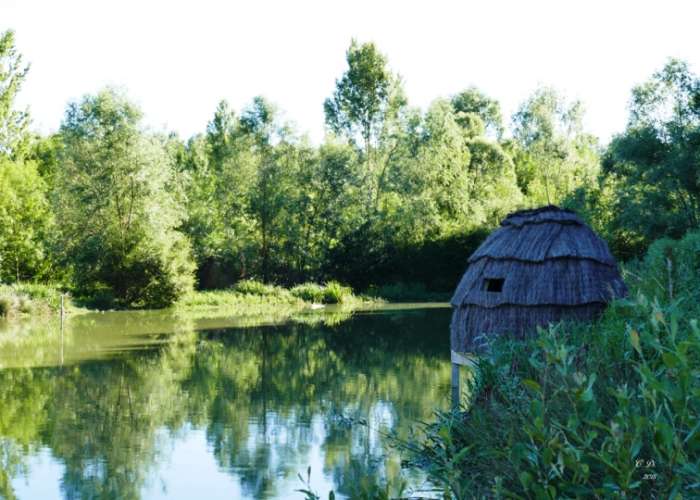
{"label": "dark green tree reflections on the pond, excluding reflected sky", "polygon": [[65,498],[140,498],[170,435],[189,428],[204,429],[217,464],[247,497],[280,493],[319,452],[337,492],[351,494],[363,474],[395,480],[400,466],[387,458],[385,432],[405,438],[447,403],[448,313],[198,334],[181,321],[156,349],[2,370],[0,496],[13,497],[12,477],[48,447],[64,466]]}

